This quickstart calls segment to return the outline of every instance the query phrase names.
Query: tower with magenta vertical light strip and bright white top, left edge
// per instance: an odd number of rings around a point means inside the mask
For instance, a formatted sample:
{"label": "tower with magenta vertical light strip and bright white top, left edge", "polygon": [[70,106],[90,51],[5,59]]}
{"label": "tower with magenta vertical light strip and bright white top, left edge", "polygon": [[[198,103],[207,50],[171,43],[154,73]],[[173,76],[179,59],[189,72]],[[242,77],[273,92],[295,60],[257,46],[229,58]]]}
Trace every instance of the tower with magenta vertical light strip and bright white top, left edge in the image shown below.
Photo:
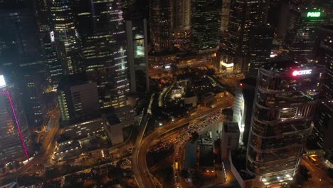
{"label": "tower with magenta vertical light strip and bright white top, left edge", "polygon": [[16,85],[0,75],[0,162],[24,161],[29,157],[30,134]]}

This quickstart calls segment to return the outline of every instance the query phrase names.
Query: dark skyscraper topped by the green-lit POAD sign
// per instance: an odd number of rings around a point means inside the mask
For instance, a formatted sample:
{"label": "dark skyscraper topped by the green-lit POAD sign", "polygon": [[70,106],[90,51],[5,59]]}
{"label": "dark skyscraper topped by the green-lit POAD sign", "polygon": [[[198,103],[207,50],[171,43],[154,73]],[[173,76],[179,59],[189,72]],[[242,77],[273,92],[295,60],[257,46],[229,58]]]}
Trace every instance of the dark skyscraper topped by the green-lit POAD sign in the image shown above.
{"label": "dark skyscraper topped by the green-lit POAD sign", "polygon": [[308,61],[311,59],[315,40],[315,30],[327,23],[327,13],[317,9],[290,9],[289,23],[285,36],[285,48],[293,61]]}

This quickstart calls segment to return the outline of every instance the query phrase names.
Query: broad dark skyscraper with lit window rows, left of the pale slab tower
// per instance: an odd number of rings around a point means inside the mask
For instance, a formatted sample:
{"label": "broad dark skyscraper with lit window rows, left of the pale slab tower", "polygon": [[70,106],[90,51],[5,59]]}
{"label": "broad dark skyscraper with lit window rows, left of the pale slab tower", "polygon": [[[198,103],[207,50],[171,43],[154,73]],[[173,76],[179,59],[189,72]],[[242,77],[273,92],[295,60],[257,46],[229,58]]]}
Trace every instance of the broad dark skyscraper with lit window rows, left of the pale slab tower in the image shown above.
{"label": "broad dark skyscraper with lit window rows, left of the pale slab tower", "polygon": [[75,1],[88,80],[98,85],[101,108],[125,106],[129,92],[122,1]]}

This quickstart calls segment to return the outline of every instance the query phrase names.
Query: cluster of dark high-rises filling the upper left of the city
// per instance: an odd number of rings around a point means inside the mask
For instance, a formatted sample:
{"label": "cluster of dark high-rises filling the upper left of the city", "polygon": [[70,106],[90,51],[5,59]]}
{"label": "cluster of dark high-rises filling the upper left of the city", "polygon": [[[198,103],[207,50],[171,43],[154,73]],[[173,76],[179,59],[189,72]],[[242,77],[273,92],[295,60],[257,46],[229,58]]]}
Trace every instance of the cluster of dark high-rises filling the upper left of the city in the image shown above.
{"label": "cluster of dark high-rises filling the upper left of the city", "polygon": [[123,142],[136,116],[127,95],[149,91],[147,19],[129,4],[0,2],[0,163],[34,155],[30,132],[43,130],[57,103],[73,147],[96,132]]}

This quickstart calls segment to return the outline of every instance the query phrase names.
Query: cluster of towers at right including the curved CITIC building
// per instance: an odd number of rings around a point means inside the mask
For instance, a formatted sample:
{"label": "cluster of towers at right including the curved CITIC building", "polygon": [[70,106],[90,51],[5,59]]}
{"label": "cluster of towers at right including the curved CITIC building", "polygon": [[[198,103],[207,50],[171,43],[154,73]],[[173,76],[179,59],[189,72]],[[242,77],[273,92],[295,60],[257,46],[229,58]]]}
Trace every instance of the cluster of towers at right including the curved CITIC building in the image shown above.
{"label": "cluster of towers at right including the curved CITIC building", "polygon": [[233,122],[247,151],[247,173],[242,179],[235,172],[243,187],[292,180],[303,155],[332,167],[332,27],[318,26],[313,35],[308,61],[265,63],[256,78],[239,81]]}

